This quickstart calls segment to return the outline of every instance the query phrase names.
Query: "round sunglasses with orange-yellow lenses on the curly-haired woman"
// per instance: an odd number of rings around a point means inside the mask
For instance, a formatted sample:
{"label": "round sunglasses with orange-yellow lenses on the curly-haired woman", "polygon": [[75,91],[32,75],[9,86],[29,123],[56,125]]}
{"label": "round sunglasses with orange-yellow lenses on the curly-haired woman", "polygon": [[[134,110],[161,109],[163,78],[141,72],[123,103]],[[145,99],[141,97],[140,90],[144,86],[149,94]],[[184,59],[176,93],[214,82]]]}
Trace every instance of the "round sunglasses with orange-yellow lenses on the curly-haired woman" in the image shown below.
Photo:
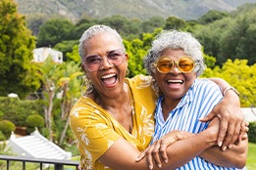
{"label": "round sunglasses with orange-yellow lenses on the curly-haired woman", "polygon": [[174,61],[169,57],[162,57],[157,62],[157,69],[162,73],[170,72],[173,67],[177,64],[179,71],[183,73],[188,73],[194,68],[194,60],[191,57],[181,57],[179,61]]}

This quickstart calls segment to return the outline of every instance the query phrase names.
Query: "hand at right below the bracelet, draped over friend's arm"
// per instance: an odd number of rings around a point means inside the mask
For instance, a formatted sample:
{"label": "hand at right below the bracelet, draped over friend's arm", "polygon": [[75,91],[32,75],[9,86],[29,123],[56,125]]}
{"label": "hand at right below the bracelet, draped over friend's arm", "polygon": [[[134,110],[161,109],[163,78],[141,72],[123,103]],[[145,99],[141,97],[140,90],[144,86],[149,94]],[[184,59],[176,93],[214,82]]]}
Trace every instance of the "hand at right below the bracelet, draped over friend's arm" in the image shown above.
{"label": "hand at right below the bracelet, draped over friend's arm", "polygon": [[215,106],[215,108],[200,121],[209,121],[214,116],[220,118],[221,124],[218,134],[218,145],[222,147],[223,150],[227,147],[231,147],[233,143],[238,139],[241,139],[243,132],[243,114],[240,109],[239,98],[236,94],[231,91],[226,93],[225,98],[222,102]]}

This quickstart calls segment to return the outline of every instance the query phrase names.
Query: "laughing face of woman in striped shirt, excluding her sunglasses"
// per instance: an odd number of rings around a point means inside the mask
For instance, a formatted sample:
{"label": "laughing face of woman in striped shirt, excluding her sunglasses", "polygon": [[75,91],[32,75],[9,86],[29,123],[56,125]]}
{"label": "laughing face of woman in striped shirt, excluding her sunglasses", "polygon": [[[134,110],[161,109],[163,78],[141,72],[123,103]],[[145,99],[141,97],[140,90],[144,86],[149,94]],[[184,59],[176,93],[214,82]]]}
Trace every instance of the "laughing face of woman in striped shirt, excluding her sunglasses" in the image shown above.
{"label": "laughing face of woman in striped shirt, excluding her sunglasses", "polygon": [[[161,56],[169,57],[174,61],[186,56],[183,50],[168,49],[163,51]],[[161,91],[165,94],[165,100],[180,101],[193,84],[196,74],[194,71],[181,73],[177,65],[169,73],[161,73],[157,69],[153,73],[154,79]]]}

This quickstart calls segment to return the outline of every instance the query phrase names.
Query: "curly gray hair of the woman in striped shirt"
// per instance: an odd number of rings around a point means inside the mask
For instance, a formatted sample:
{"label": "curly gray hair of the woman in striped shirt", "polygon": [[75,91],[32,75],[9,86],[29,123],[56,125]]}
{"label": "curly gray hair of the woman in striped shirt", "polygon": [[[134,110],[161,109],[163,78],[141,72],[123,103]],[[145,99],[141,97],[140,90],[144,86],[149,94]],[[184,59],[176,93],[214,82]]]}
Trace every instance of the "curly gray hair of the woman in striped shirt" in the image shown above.
{"label": "curly gray hair of the woman in striped shirt", "polygon": [[156,67],[152,66],[162,53],[167,49],[183,50],[185,55],[190,56],[195,61],[194,71],[198,77],[205,69],[203,60],[202,46],[191,33],[179,30],[163,30],[161,31],[152,42],[152,48],[144,57],[144,66],[148,73],[152,75]]}

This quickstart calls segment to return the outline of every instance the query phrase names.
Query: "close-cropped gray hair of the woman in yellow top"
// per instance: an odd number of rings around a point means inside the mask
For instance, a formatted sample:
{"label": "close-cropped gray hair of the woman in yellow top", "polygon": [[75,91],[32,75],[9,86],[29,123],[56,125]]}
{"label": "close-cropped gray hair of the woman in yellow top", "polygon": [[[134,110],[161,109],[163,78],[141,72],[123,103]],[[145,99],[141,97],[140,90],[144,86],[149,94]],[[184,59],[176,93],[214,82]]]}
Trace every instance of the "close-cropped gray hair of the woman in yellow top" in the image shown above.
{"label": "close-cropped gray hair of the woman in yellow top", "polygon": [[122,46],[122,48],[124,48],[123,50],[126,51],[125,45],[123,43],[123,39],[116,29],[113,29],[110,26],[103,25],[103,24],[95,24],[90,26],[88,29],[86,29],[80,37],[79,46],[78,46],[78,53],[80,56],[80,60],[82,60],[82,58],[86,56],[84,52],[84,44],[90,38],[100,33],[109,33],[116,36],[118,41],[120,42],[120,45]]}

